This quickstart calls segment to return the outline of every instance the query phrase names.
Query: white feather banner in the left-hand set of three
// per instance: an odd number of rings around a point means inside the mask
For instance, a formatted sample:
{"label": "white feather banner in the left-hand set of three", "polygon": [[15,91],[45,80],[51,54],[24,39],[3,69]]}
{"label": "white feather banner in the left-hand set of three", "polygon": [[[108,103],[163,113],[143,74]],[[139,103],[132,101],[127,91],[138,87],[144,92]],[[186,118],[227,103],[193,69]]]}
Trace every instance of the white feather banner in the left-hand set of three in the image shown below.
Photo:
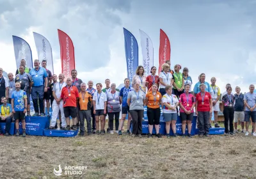
{"label": "white feather banner in the left-hand set of three", "polygon": [[36,51],[38,54],[38,59],[40,63],[42,63],[43,60],[47,61],[47,69],[54,74],[53,69],[53,62],[52,62],[52,47],[47,38],[44,36],[33,32],[35,44],[36,44]]}

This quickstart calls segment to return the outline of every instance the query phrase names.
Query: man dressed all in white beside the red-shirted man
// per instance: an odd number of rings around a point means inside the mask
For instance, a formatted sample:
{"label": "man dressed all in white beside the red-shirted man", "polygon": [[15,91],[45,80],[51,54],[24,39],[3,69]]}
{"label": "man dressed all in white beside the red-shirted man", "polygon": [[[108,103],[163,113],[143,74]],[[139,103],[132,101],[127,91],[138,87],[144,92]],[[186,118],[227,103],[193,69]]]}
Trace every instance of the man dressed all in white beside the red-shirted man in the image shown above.
{"label": "man dressed all in white beside the red-shirted man", "polygon": [[60,74],[59,75],[60,82],[56,82],[52,88],[52,96],[54,97],[54,100],[52,102],[52,120],[51,120],[50,129],[55,128],[59,111],[61,113],[61,128],[66,127],[65,114],[63,109],[63,100],[60,97],[62,89],[67,86],[66,82],[64,82],[64,79],[65,79],[64,74]]}

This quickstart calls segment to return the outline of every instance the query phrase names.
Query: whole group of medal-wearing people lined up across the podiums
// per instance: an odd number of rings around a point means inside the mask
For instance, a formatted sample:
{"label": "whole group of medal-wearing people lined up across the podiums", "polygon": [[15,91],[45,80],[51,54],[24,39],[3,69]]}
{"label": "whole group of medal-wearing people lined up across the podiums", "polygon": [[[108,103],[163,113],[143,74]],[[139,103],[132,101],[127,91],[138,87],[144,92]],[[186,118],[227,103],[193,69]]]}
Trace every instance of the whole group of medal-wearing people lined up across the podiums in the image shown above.
{"label": "whole group of medal-wearing people lined up across the podiums", "polygon": [[[124,121],[128,114],[127,132],[130,134],[132,123],[132,137],[141,137],[144,106],[147,105],[148,137],[152,137],[153,127],[156,128],[156,136],[159,134],[159,120],[161,108],[166,123],[166,136],[170,137],[172,130],[176,137],[176,122],[178,114],[182,121],[182,136],[185,136],[188,126],[188,137],[191,137],[191,121],[194,111],[198,116],[199,136],[209,136],[211,128],[212,111],[214,114],[214,127],[218,125],[218,111],[220,111],[220,88],[216,86],[216,78],[211,78],[211,84],[205,81],[205,74],[200,74],[191,93],[193,81],[189,76],[188,68],[175,65],[174,71],[170,70],[170,61],[162,65],[162,71],[156,75],[156,66],[152,66],[150,75],[144,74],[143,66],[138,66],[136,74],[130,82],[125,78],[124,87],[117,89],[116,84],[105,80],[106,88],[97,83],[93,88],[93,81],[84,83],[77,78],[77,70],[71,71],[72,77],[57,75],[47,70],[47,61],[34,61],[35,68],[26,67],[26,61],[20,61],[15,77],[8,74],[8,79],[3,77],[3,69],[0,68],[0,106],[1,121],[6,122],[6,136],[9,135],[12,118],[15,120],[16,132],[19,136],[19,120],[22,121],[22,136],[26,136],[25,114],[30,116],[30,94],[35,107],[34,116],[49,115],[51,102],[52,116],[51,129],[56,128],[57,118],[60,116],[60,125],[64,130],[77,130],[84,136],[84,121],[87,123],[87,133],[105,134],[106,116],[108,115],[107,132],[114,131],[122,135]],[[59,81],[58,81],[59,79]],[[87,86],[88,85],[88,86]],[[240,88],[236,87],[236,94],[232,93],[232,87],[227,84],[225,93],[222,94],[221,110],[225,118],[225,135],[234,135],[237,132],[237,122],[241,121],[242,132],[248,136],[250,118],[252,118],[253,136],[256,122],[256,94],[254,86],[250,85],[250,92],[243,95]],[[46,101],[45,111],[44,100]],[[39,106],[38,106],[39,104]],[[122,117],[119,123],[120,112]],[[45,113],[46,112],[46,113]],[[72,118],[72,125],[70,123]],[[115,130],[114,130],[115,120]],[[132,122],[131,122],[132,121]],[[233,125],[234,122],[234,125]],[[244,131],[244,122],[246,130]],[[235,128],[235,129],[234,129]]]}

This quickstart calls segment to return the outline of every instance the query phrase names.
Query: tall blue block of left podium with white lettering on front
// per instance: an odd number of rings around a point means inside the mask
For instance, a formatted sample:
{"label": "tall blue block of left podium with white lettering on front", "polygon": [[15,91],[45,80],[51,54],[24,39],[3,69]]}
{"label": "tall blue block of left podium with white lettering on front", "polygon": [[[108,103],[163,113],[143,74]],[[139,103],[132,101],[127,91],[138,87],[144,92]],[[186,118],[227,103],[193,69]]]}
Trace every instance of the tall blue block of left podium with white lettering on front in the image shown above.
{"label": "tall blue block of left podium with white lettering on front", "polygon": [[[26,134],[30,136],[44,136],[44,129],[49,127],[50,116],[26,116]],[[19,123],[19,132],[22,134],[22,123]]]}

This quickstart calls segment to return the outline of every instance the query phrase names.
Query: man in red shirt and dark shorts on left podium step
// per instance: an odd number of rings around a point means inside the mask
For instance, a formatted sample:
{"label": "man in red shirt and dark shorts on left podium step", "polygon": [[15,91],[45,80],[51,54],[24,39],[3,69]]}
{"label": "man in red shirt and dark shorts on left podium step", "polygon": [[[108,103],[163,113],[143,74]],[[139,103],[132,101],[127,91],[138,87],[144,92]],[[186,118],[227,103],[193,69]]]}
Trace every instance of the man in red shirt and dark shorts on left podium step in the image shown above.
{"label": "man in red shirt and dark shorts on left podium step", "polygon": [[[67,86],[61,90],[61,96],[63,99],[63,109],[67,122],[67,127],[65,130],[77,130],[76,127],[76,109],[77,109],[77,98],[79,98],[78,89],[76,86],[72,86],[72,79],[70,77],[67,78]],[[73,125],[70,128],[70,118],[72,117]]]}

